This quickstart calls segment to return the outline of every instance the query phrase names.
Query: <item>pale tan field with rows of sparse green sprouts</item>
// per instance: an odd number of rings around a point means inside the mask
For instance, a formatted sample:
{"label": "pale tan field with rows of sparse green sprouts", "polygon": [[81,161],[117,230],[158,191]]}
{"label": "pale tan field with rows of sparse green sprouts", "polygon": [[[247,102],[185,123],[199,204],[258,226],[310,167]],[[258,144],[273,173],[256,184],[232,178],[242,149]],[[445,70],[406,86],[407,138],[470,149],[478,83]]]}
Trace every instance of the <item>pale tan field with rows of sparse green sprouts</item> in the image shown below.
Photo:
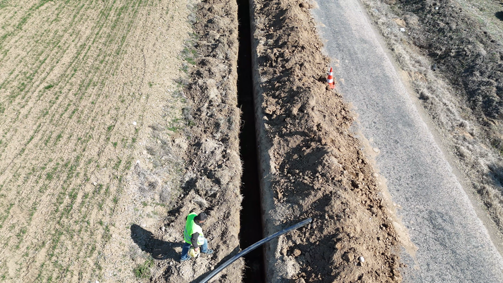
{"label": "pale tan field with rows of sparse green sprouts", "polygon": [[146,274],[131,225],[180,190],[190,9],[0,1],[0,281]]}

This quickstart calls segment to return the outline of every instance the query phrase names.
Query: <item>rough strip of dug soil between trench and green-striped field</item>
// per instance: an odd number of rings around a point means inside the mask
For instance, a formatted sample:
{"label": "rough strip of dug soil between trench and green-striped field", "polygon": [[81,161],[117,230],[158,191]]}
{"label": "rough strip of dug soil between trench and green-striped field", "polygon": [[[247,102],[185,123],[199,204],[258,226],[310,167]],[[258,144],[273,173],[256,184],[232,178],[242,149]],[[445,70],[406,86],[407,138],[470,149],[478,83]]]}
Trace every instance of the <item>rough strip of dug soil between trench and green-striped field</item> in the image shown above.
{"label": "rough strip of dug soil between trench and green-striped field", "polygon": [[[186,174],[182,192],[174,208],[144,246],[151,250],[164,246],[152,282],[197,282],[215,266],[239,252],[239,115],[237,108],[237,5],[234,1],[208,0],[196,5],[194,30],[197,34],[195,66],[184,95],[189,107],[184,115],[190,129],[174,137],[185,144]],[[203,226],[211,256],[180,263],[185,217],[206,211]],[[149,236],[149,235],[146,235]],[[167,241],[167,242],[166,242]],[[162,247],[162,246],[161,246]],[[174,249],[172,247],[175,247]],[[220,282],[239,282],[244,262],[238,260],[217,275]]]}

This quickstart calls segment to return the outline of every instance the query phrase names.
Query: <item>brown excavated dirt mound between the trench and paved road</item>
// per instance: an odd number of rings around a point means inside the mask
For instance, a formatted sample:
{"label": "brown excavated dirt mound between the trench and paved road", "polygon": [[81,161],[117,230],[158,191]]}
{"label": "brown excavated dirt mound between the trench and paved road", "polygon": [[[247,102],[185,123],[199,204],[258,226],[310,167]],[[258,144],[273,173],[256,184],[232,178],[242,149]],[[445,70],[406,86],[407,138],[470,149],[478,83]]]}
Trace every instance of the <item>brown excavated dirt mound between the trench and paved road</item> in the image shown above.
{"label": "brown excavated dirt mound between the trench and paved road", "polygon": [[267,281],[399,282],[397,223],[348,105],[326,89],[310,8],[251,7],[265,234],[313,219],[266,247]]}

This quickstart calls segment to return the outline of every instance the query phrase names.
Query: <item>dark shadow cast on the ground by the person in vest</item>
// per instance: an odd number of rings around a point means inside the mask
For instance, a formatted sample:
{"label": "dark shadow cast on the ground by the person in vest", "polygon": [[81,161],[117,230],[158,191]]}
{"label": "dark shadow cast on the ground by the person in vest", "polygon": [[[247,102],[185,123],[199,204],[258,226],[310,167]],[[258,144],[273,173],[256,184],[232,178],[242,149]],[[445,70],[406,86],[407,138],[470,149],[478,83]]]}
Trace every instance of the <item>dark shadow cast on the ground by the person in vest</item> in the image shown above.
{"label": "dark shadow cast on the ground by the person in vest", "polygon": [[182,246],[182,243],[156,239],[152,232],[136,224],[131,225],[131,239],[133,239],[142,251],[150,254],[153,259],[178,259],[180,257],[180,253],[175,251],[175,247]]}

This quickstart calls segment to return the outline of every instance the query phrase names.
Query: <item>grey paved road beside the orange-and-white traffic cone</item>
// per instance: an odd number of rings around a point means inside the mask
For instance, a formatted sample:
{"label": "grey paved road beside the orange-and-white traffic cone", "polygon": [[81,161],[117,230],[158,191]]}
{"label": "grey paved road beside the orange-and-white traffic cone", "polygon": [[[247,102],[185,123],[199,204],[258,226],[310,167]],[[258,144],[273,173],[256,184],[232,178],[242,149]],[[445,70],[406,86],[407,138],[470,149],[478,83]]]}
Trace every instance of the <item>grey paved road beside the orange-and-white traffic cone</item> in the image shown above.
{"label": "grey paved road beside the orange-and-white traffic cone", "polygon": [[[359,115],[398,216],[418,248],[405,282],[503,282],[503,258],[416,109],[357,0],[319,0],[313,16],[339,90]],[[338,65],[337,65],[338,63]],[[343,79],[343,80],[341,80]]]}

